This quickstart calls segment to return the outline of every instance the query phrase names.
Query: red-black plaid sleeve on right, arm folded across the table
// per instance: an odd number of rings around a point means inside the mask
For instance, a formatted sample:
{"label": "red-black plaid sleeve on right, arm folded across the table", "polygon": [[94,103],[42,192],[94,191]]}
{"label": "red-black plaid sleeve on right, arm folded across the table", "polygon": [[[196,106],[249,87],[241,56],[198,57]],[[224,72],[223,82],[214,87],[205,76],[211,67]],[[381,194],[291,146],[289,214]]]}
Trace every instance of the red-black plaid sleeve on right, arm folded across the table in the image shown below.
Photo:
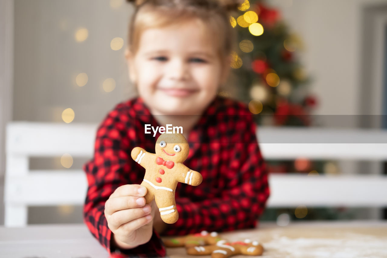
{"label": "red-black plaid sleeve on right, arm folded across the table", "polygon": [[256,226],[269,197],[269,185],[266,164],[255,136],[256,126],[251,120],[245,128],[249,129],[240,134],[244,143],[233,144],[229,169],[221,172],[226,187],[220,198],[199,202],[177,198],[179,220],[169,225],[165,234],[221,232]]}

